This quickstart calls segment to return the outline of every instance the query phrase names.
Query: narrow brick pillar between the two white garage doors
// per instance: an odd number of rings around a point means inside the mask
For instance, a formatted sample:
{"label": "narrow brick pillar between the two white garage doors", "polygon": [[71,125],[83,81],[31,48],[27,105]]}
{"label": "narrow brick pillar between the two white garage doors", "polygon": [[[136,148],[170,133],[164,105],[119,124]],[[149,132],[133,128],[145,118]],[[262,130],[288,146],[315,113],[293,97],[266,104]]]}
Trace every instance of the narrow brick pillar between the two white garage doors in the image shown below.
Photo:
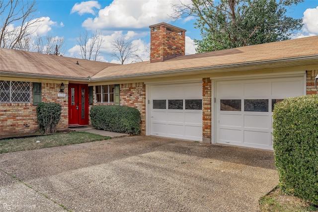
{"label": "narrow brick pillar between the two white garage doors", "polygon": [[211,142],[211,79],[202,79],[202,138],[204,142]]}

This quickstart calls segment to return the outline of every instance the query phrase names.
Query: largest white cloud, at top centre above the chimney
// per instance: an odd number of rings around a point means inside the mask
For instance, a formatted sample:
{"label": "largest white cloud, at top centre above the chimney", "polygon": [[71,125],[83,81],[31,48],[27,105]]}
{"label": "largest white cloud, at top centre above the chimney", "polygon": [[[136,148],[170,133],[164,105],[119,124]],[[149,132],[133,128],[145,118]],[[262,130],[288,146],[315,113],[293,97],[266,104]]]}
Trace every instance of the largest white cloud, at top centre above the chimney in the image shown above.
{"label": "largest white cloud, at top centre above the chimney", "polygon": [[178,0],[113,0],[100,9],[95,18],[88,18],[82,26],[86,29],[138,29],[166,22],[173,13],[171,4]]}

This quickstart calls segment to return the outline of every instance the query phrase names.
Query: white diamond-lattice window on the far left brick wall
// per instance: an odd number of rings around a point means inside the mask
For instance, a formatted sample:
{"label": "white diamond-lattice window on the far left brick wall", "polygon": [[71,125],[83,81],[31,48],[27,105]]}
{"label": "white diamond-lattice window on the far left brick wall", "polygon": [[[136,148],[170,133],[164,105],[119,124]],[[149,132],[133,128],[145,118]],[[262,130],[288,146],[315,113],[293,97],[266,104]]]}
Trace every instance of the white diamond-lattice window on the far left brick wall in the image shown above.
{"label": "white diamond-lattice window on the far left brick wall", "polygon": [[0,102],[31,103],[31,82],[0,80]]}

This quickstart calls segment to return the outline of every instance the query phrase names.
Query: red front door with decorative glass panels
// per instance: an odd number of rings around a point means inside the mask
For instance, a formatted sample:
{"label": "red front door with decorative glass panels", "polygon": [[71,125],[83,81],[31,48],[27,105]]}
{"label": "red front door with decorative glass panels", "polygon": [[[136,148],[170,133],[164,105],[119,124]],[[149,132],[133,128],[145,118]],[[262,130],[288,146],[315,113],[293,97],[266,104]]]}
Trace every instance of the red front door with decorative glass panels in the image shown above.
{"label": "red front door with decorative glass panels", "polygon": [[69,84],[69,125],[88,125],[87,84]]}

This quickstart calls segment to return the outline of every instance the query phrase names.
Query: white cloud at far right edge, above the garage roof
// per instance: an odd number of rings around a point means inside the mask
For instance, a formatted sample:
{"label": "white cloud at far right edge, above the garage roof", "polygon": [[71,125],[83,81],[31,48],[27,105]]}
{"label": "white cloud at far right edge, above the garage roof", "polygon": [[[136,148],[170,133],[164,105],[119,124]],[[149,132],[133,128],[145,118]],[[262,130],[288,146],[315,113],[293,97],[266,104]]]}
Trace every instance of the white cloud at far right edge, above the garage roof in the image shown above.
{"label": "white cloud at far right edge, above the garage roof", "polygon": [[303,31],[305,33],[318,34],[318,6],[305,10],[303,23]]}

